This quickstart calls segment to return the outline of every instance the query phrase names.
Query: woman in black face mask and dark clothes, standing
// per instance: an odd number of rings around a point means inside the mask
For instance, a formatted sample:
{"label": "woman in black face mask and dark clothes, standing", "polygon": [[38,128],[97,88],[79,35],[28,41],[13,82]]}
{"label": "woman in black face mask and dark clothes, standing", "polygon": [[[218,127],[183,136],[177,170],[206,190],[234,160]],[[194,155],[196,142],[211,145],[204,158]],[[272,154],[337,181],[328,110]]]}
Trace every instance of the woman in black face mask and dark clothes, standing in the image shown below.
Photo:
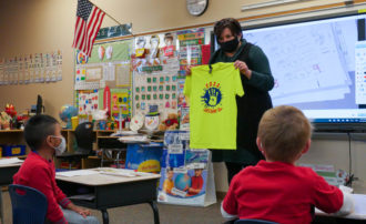
{"label": "woman in black face mask and dark clothes, standing", "polygon": [[[220,49],[212,54],[210,64],[234,62],[241,72],[245,92],[242,98],[236,98],[236,150],[212,150],[213,162],[225,162],[230,184],[243,167],[255,165],[264,159],[256,146],[256,134],[263,113],[272,108],[268,91],[274,86],[274,79],[267,57],[260,47],[243,39],[237,20],[226,18],[217,21],[214,34]],[[191,68],[187,68],[186,73],[191,74]]]}

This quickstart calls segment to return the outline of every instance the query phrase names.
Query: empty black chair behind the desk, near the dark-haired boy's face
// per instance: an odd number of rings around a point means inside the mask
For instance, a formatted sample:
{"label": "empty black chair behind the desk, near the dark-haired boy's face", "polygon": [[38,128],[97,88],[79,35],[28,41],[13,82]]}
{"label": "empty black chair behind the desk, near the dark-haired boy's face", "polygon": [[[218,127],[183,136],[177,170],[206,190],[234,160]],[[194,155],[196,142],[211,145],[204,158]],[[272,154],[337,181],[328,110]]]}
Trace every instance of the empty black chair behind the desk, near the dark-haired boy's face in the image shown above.
{"label": "empty black chair behind the desk, near the dark-haired boy's face", "polygon": [[81,159],[87,159],[93,151],[93,123],[83,122],[75,129],[77,149],[74,152],[65,152],[62,155],[58,155],[58,159],[69,162],[69,170],[72,167],[73,162],[78,162]]}

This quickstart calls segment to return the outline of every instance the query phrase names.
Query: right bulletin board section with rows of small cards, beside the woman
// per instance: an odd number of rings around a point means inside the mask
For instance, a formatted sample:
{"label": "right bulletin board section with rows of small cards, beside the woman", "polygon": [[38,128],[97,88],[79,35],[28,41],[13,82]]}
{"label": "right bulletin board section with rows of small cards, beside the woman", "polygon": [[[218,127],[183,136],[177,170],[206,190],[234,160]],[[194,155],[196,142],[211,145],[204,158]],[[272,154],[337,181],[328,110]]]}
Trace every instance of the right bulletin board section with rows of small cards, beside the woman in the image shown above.
{"label": "right bulletin board section with rows of small cards, beside the woman", "polygon": [[133,43],[133,111],[149,114],[157,108],[161,118],[186,106],[183,94],[185,69],[202,64],[205,29],[138,37]]}

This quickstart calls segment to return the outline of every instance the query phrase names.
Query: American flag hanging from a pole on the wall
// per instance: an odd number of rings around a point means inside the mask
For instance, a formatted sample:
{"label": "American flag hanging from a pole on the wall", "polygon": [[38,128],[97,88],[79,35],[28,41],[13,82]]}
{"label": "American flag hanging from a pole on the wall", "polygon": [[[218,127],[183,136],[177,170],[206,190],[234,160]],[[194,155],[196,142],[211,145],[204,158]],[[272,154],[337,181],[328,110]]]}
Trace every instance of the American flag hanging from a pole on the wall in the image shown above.
{"label": "American flag hanging from a pole on the wall", "polygon": [[105,13],[88,0],[78,0],[75,34],[72,48],[90,57]]}

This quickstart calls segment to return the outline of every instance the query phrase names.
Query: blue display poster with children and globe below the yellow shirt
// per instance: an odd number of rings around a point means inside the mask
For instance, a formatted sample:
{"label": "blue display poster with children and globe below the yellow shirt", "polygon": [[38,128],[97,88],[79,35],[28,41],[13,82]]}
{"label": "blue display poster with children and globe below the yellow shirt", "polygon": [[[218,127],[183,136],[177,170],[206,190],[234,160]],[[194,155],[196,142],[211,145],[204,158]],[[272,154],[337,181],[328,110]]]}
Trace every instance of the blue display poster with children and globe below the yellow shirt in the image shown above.
{"label": "blue display poster with children and globe below the yellow shirt", "polygon": [[166,131],[157,202],[207,206],[216,202],[211,152],[190,149],[189,131]]}

